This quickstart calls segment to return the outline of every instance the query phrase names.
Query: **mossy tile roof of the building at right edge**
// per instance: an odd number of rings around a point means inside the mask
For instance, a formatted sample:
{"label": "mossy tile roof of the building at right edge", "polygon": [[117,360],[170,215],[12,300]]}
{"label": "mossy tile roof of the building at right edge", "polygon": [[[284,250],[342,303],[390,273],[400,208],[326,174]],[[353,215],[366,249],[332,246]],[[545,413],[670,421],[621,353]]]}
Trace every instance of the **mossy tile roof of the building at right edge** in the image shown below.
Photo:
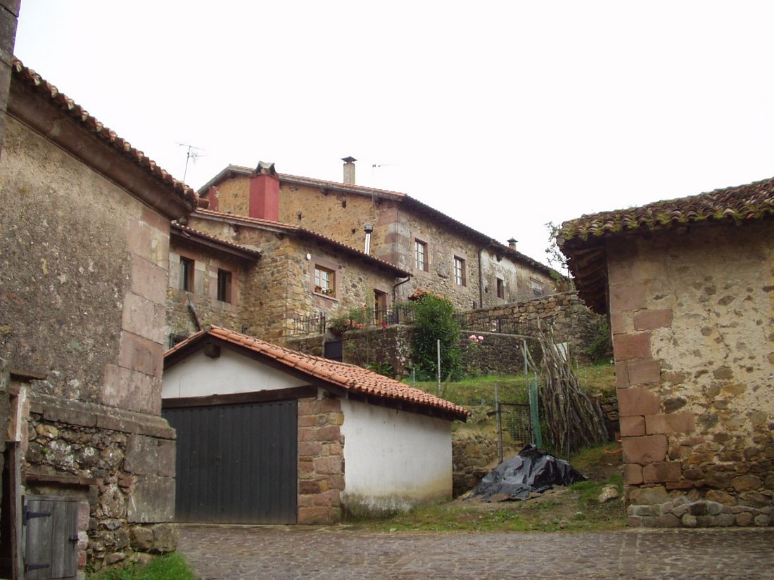
{"label": "mossy tile roof of the building at right edge", "polygon": [[657,201],[641,207],[593,213],[562,224],[562,245],[627,231],[664,230],[700,221],[738,223],[774,215],[774,178],[714,189],[697,196]]}

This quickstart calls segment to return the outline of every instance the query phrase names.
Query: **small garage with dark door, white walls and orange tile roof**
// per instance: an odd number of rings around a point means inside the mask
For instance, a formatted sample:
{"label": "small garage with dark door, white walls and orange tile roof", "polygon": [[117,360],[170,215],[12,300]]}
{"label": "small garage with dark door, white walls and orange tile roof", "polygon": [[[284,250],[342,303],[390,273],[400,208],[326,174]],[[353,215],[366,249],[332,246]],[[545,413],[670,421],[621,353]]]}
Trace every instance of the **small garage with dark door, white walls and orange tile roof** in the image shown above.
{"label": "small garage with dark door, white walls and orange tile roof", "polygon": [[176,520],[329,524],[451,497],[468,411],[347,363],[210,326],[168,350]]}

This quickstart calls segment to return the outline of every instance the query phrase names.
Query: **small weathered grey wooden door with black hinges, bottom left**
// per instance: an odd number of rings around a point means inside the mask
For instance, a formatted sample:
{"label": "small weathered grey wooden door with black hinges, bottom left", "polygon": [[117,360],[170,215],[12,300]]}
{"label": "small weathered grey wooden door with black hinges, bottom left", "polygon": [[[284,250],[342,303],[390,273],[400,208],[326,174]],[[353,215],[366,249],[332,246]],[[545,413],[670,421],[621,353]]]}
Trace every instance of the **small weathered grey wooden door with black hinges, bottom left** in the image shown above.
{"label": "small weathered grey wooden door with black hinges, bottom left", "polygon": [[56,496],[25,496],[24,578],[76,578],[78,502]]}

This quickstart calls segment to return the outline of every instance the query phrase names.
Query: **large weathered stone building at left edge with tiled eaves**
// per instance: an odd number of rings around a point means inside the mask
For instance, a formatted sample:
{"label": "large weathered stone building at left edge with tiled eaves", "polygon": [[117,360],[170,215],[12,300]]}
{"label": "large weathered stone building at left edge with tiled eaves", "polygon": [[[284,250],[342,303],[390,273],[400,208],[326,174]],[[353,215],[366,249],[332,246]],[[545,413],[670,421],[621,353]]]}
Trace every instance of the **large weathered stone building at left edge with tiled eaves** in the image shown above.
{"label": "large weathered stone building at left edge with tiled eaves", "polygon": [[[161,417],[168,244],[170,220],[196,196],[19,61],[0,188],[3,556],[74,578],[87,560],[173,550],[175,433]],[[22,495],[27,507],[61,508],[63,536],[45,536],[50,517],[22,529]]]}

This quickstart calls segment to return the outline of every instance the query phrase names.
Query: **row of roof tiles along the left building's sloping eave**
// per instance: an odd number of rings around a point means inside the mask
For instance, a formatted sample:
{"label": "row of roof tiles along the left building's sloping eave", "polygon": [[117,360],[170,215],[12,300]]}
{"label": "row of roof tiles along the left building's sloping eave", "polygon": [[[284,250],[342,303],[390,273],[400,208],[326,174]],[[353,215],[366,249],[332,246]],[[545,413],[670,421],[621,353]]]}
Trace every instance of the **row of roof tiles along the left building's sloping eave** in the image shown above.
{"label": "row of roof tiles along the left building's sloping eave", "polygon": [[178,195],[185,198],[189,203],[196,205],[197,196],[194,189],[191,189],[182,181],[175,179],[170,173],[160,168],[155,161],[149,159],[145,153],[132,147],[125,139],[118,137],[115,131],[102,125],[102,123],[92,117],[84,107],[76,104],[75,101],[70,97],[67,97],[66,94],[60,93],[57,87],[50,84],[47,80],[44,80],[43,77],[34,70],[25,67],[22,61],[18,59],[13,60],[12,72],[15,77],[22,80],[23,83],[33,87],[40,93],[46,94],[50,101],[53,101],[53,103],[63,111],[67,111],[72,118],[84,125],[84,128],[87,128],[88,131],[91,131],[94,135],[97,135],[99,138],[118,149],[118,151],[122,152],[128,159],[132,160],[132,162],[141,165],[146,171],[155,176],[156,179],[159,179],[159,181],[165,183],[167,186],[171,186]]}

